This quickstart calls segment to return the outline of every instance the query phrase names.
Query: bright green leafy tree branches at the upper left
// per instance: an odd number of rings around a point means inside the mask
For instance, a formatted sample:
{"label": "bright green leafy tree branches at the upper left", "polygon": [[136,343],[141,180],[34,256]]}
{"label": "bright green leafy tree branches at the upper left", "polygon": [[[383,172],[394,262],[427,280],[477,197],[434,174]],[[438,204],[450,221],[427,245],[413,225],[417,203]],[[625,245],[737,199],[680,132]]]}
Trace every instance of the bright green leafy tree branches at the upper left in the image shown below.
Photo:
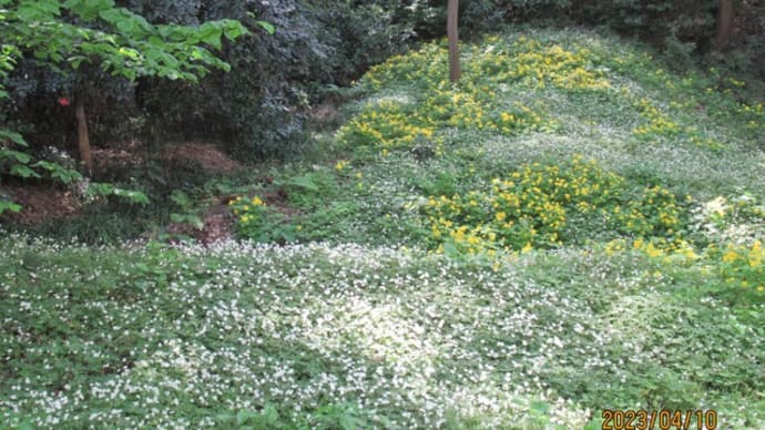
{"label": "bright green leafy tree branches at the upper left", "polygon": [[[258,24],[274,32],[271,24]],[[246,33],[235,20],[198,27],[152,24],[113,0],[0,0],[0,99],[9,96],[4,82],[20,58],[33,58],[61,73],[93,64],[131,81],[155,75],[196,82],[212,68],[230,70],[211,49],[221,49],[224,37],[234,41]],[[19,133],[0,129],[0,172],[40,177],[33,168],[42,168],[64,182],[79,177],[52,163],[32,164],[26,146]],[[20,206],[0,195],[0,213],[7,209],[18,212]]]}

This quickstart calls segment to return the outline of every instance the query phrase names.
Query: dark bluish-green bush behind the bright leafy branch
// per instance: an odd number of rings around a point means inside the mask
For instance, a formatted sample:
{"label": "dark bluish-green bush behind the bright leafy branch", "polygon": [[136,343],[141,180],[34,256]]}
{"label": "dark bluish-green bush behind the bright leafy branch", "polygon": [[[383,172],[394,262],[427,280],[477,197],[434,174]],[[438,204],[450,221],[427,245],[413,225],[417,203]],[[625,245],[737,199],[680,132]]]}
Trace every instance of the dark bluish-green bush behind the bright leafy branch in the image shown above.
{"label": "dark bluish-green bush behind the bright leafy branch", "polygon": [[[330,50],[318,34],[316,21],[297,1],[278,2],[190,1],[131,2],[132,8],[160,21],[184,23],[233,18],[253,34],[224,47],[228,73],[214,73],[201,84],[145,80],[139,102],[150,117],[152,134],[176,139],[223,141],[246,157],[298,153],[307,106],[306,88],[312,79],[329,74],[325,65]],[[257,20],[277,29],[272,35]]]}

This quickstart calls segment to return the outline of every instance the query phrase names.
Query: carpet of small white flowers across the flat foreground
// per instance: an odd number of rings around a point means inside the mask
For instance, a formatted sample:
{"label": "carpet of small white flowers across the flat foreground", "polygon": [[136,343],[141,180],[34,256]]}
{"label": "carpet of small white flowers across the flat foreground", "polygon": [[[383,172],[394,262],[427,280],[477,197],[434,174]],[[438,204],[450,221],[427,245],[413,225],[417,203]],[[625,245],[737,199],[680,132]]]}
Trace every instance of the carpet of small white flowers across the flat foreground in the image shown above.
{"label": "carpet of small white flowers across the flat foreground", "polygon": [[[277,405],[282,420],[322,427],[316,413],[330,405],[371,428],[581,428],[598,413],[569,400],[578,383],[618,390],[634,377],[624,369],[669,359],[651,330],[670,322],[640,319],[666,293],[639,297],[636,268],[582,252],[549,256],[621,285],[583,293],[538,277],[541,254],[494,273],[419,249],[223,243],[164,249],[157,272],[140,263],[151,247],[24,242],[4,240],[7,258],[58,281],[41,290],[27,273],[0,277],[0,303],[19,305],[0,319],[13,381],[0,388],[0,419],[11,426],[221,427],[221,412]],[[747,339],[688,354],[756,362],[763,340]]]}

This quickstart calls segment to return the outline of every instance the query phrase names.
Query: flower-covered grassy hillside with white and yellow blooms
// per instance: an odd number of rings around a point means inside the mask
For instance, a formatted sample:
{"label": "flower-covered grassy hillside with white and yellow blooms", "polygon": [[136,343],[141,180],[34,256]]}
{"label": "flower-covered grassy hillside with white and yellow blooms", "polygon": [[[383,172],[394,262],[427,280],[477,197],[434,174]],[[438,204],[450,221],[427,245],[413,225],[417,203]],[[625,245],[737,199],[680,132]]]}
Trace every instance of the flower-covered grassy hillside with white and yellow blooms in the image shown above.
{"label": "flower-covered grassy hillside with white and yellow blooms", "polygon": [[592,33],[462,60],[374,68],[252,243],[0,239],[0,428],[765,427],[763,104]]}

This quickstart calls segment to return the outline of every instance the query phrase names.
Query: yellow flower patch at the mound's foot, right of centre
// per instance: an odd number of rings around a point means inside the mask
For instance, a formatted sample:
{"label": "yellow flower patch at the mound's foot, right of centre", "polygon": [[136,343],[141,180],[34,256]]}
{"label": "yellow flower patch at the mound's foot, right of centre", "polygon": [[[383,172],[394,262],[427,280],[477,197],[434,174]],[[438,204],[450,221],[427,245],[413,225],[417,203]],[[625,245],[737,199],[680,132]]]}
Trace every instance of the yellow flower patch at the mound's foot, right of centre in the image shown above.
{"label": "yellow flower patch at the mound's foot, right of centre", "polygon": [[435,244],[450,243],[468,254],[561,244],[572,214],[604,219],[639,237],[669,236],[664,247],[681,240],[681,209],[674,195],[654,186],[638,198],[628,197],[623,183],[578,155],[562,165],[523,165],[506,178],[492,180],[486,191],[431,196],[425,213]]}

